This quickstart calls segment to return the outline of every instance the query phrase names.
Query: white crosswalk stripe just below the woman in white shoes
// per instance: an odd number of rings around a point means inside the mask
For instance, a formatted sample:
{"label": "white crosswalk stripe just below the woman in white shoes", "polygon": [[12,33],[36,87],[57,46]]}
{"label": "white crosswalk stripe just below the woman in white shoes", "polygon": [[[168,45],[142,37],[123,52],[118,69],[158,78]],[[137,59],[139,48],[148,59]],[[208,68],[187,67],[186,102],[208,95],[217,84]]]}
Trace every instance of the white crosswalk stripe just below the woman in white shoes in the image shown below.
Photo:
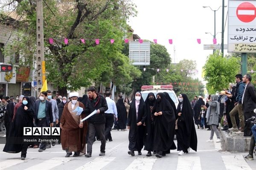
{"label": "white crosswalk stripe just below the woman in white shoes", "polygon": [[201,170],[199,156],[179,156],[177,170]]}

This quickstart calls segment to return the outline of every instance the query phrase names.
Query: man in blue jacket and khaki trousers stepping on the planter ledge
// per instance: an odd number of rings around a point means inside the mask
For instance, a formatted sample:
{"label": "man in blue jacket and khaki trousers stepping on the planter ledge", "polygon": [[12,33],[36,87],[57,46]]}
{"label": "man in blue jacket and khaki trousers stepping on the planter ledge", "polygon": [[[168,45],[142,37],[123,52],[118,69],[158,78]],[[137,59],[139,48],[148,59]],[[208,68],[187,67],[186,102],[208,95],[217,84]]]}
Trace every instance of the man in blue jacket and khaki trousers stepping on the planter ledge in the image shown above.
{"label": "man in blue jacket and khaki trousers stepping on the planter ledge", "polygon": [[228,130],[230,131],[238,131],[237,125],[236,125],[236,114],[238,113],[239,115],[239,120],[240,120],[240,127],[241,131],[237,133],[243,133],[244,132],[244,112],[243,112],[243,106],[242,106],[242,96],[244,93],[244,83],[242,81],[242,75],[241,74],[236,74],[236,103],[235,107],[230,111],[230,119],[232,122],[233,127],[229,128]]}

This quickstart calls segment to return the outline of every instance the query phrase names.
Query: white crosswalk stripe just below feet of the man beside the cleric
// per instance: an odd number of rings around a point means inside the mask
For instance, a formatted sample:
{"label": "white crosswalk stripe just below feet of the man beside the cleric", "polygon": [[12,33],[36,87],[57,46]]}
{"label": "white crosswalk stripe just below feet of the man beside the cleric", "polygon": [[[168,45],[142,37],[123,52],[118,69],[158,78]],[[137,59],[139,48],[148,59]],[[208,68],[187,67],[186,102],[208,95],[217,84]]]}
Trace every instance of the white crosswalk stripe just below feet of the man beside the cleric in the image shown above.
{"label": "white crosswalk stripe just below feet of the man beside the cleric", "polygon": [[113,157],[98,157],[93,159],[90,162],[87,162],[86,164],[82,165],[81,167],[76,168],[76,170],[101,170],[103,167],[105,167],[107,164],[109,164],[111,161],[113,161],[115,158]]}

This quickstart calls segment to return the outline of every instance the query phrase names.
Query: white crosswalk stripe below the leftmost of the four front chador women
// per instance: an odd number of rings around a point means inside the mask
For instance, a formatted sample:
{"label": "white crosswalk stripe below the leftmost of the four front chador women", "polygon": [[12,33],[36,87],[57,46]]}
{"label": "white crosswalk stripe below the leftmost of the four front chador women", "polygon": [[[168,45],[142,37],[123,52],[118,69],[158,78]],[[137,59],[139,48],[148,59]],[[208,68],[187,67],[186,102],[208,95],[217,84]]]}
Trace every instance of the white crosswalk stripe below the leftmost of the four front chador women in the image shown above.
{"label": "white crosswalk stripe below the leftmost of the four front chador women", "polygon": [[125,170],[151,170],[156,158],[137,158]]}

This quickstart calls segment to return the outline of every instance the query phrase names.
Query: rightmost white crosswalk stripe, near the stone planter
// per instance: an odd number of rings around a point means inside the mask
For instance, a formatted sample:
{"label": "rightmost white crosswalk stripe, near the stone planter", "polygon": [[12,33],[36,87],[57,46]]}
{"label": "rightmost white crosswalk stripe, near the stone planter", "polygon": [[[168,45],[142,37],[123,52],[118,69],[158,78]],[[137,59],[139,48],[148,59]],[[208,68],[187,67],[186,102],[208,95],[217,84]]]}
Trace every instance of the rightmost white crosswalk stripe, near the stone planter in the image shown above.
{"label": "rightmost white crosswalk stripe, near the stone planter", "polygon": [[242,155],[221,157],[227,170],[252,170]]}

